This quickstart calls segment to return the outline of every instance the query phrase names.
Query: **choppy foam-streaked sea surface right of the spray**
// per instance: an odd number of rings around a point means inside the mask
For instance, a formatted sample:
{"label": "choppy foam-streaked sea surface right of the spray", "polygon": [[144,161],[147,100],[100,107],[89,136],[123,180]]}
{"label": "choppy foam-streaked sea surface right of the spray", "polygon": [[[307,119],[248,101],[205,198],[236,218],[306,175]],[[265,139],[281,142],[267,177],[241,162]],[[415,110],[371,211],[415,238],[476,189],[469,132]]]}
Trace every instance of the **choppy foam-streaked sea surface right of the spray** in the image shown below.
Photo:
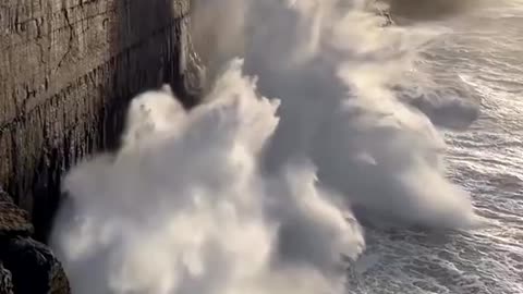
{"label": "choppy foam-streaked sea surface right of the spray", "polygon": [[425,52],[441,86],[479,103],[467,128],[442,131],[449,176],[488,225],[471,232],[367,229],[354,293],[523,293],[523,4],[513,1],[437,22]]}

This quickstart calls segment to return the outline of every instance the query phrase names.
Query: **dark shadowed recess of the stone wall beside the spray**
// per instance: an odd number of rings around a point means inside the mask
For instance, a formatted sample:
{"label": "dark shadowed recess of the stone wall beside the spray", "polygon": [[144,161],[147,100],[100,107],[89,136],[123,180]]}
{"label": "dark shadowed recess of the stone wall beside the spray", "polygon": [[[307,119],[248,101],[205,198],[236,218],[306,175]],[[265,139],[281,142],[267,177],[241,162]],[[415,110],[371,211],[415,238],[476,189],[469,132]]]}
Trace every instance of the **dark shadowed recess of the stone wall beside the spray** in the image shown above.
{"label": "dark shadowed recess of the stone wall beside the spray", "polygon": [[115,2],[118,17],[110,28],[114,68],[104,94],[111,99],[101,110],[100,125],[105,148],[109,150],[119,147],[124,114],[137,94],[168,83],[185,107],[193,107],[196,100],[184,83],[188,1]]}

